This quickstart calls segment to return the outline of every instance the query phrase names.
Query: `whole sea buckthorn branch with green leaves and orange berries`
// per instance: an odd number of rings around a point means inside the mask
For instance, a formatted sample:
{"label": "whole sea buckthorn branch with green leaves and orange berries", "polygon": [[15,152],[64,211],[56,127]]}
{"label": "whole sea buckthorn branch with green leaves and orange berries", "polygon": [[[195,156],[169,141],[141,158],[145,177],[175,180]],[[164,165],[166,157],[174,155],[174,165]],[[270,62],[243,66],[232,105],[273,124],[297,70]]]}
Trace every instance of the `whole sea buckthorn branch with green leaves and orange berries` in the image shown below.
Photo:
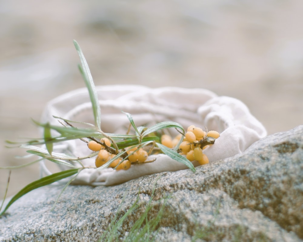
{"label": "whole sea buckthorn branch with green leaves and orange berries", "polygon": [[[88,89],[95,124],[67,120],[56,116],[54,117],[62,119],[68,126],[55,126],[50,123],[39,123],[33,120],[36,125],[44,129],[42,138],[31,139],[27,142],[7,141],[9,144],[17,144],[21,148],[26,148],[27,152],[30,154],[38,155],[42,159],[47,159],[60,165],[67,165],[68,167],[72,167],[72,169],[45,176],[28,184],[8,202],[8,205],[3,211],[0,211],[0,217],[13,202],[33,189],[72,177],[68,182],[69,184],[83,169],[91,168],[91,166],[85,167],[81,160],[94,156],[96,157],[95,165],[97,170],[102,170],[107,167],[111,167],[115,170],[128,169],[131,165],[153,162],[154,160],[148,160],[148,156],[155,152],[163,152],[172,159],[187,165],[193,172],[195,171],[195,168],[191,161],[198,160],[200,165],[208,163],[208,158],[202,150],[214,144],[215,139],[219,137],[219,133],[216,131],[205,132],[200,128],[190,126],[185,133],[185,130],[180,124],[171,121],[157,123],[151,127],[137,127],[132,116],[129,113],[125,113],[130,122],[130,127],[132,126],[134,129],[133,135],[129,134],[130,129],[127,134],[103,132],[101,130],[101,109],[92,75],[80,46],[76,41],[74,41],[74,44],[81,60],[81,65],[78,67]],[[78,128],[72,126],[71,123],[79,123],[88,127]],[[180,134],[174,139],[165,136],[163,133],[158,136],[153,135],[154,133],[163,131],[163,129],[169,128],[177,129]],[[52,135],[54,132],[58,134]],[[53,152],[55,143],[74,139],[85,140],[84,138],[90,139],[89,142],[85,141],[87,142],[88,148],[92,150],[92,153],[89,155],[73,157],[68,154]],[[39,145],[45,145],[46,149],[38,147]],[[149,151],[147,152],[146,149],[148,148]],[[81,167],[76,167],[72,162],[77,162]],[[33,164],[33,162],[30,162],[27,165],[31,164]],[[24,166],[25,165],[19,167]],[[7,167],[7,169],[11,168],[12,167]],[[62,191],[64,191],[64,189]]]}

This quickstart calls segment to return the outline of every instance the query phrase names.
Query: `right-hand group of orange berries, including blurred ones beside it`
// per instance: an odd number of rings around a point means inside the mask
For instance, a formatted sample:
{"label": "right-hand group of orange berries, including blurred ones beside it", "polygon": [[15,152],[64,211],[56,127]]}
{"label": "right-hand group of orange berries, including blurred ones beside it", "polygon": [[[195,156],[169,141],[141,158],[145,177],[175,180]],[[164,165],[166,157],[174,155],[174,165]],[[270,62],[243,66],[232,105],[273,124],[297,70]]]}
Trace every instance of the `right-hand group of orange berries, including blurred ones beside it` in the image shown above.
{"label": "right-hand group of orange berries, including blurred ones beside it", "polygon": [[[161,137],[161,143],[169,148],[176,146],[182,137],[182,135],[178,135],[172,139],[169,135],[163,136]],[[203,153],[203,149],[214,144],[215,139],[219,136],[220,134],[217,131],[205,132],[201,128],[191,125],[188,127],[183,142],[179,146],[180,154],[186,155],[186,159],[189,161],[196,160],[200,165],[207,164],[209,160],[207,155]]]}

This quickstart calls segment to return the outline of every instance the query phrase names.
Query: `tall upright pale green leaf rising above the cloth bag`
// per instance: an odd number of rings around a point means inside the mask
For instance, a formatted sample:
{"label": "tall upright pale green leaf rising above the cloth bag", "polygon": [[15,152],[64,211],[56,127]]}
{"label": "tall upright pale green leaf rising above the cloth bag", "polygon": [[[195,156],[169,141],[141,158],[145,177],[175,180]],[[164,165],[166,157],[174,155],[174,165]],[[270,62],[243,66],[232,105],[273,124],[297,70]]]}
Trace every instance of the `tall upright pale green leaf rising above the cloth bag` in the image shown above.
{"label": "tall upright pale green leaf rising above the cloth bag", "polygon": [[88,89],[89,97],[92,102],[92,108],[93,108],[94,118],[95,118],[95,125],[98,127],[98,129],[101,129],[101,109],[100,109],[99,100],[98,100],[98,93],[95,88],[92,74],[89,70],[88,64],[85,60],[82,50],[81,50],[79,44],[77,43],[77,41],[75,41],[75,40],[74,40],[74,45],[76,47],[76,50],[78,51],[78,55],[81,60],[81,66],[79,65],[78,67],[79,67],[79,70],[85,81],[86,87]]}

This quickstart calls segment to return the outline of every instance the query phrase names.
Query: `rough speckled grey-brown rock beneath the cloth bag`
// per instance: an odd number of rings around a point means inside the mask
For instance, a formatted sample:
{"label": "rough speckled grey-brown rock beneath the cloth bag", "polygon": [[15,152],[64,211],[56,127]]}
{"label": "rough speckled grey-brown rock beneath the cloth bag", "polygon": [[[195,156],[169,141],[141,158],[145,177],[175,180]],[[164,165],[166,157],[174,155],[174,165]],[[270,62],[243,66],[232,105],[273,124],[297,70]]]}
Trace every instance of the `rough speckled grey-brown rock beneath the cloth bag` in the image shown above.
{"label": "rough speckled grey-brown rock beneath the cloth bag", "polygon": [[[303,241],[303,126],[254,143],[243,154],[190,170],[164,172],[113,187],[61,186],[22,197],[0,219],[0,241],[98,241],[118,211],[139,194],[143,213],[164,206],[156,241]],[[156,185],[155,185],[156,184]],[[167,196],[166,199],[161,199]],[[198,232],[203,236],[197,238]]]}

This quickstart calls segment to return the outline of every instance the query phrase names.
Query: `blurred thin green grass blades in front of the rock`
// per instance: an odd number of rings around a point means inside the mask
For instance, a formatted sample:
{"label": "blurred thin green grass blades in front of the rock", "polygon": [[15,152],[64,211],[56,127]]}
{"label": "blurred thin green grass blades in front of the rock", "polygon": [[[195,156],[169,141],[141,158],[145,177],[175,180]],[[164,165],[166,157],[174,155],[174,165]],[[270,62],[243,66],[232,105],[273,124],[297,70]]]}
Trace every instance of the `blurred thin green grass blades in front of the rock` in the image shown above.
{"label": "blurred thin green grass blades in front of the rock", "polygon": [[[126,211],[126,213],[121,216],[121,207],[120,205],[115,217],[112,219],[107,229],[103,232],[102,236],[99,238],[99,242],[115,242],[115,241],[123,241],[123,242],[152,242],[155,241],[156,234],[160,229],[160,222],[162,217],[164,216],[165,205],[167,204],[167,200],[172,198],[171,196],[165,196],[154,202],[152,204],[154,191],[152,191],[152,195],[148,203],[142,208],[142,203],[139,202],[139,195],[134,202],[134,204]],[[214,212],[213,220],[209,221],[208,224],[202,226],[198,223],[198,221],[194,224],[194,229],[192,232],[191,241],[194,242],[197,239],[207,239],[210,237],[220,236],[218,231],[213,230],[213,224],[219,214],[219,208],[216,208]],[[160,207],[159,207],[160,206]],[[135,215],[140,213],[140,211],[144,210],[144,212],[138,217],[138,219],[134,222],[134,224],[129,228],[129,224],[134,220]],[[157,212],[155,213],[155,209]],[[151,216],[153,213],[153,216]],[[119,218],[120,217],[120,218]],[[125,228],[129,228],[125,231]]]}

